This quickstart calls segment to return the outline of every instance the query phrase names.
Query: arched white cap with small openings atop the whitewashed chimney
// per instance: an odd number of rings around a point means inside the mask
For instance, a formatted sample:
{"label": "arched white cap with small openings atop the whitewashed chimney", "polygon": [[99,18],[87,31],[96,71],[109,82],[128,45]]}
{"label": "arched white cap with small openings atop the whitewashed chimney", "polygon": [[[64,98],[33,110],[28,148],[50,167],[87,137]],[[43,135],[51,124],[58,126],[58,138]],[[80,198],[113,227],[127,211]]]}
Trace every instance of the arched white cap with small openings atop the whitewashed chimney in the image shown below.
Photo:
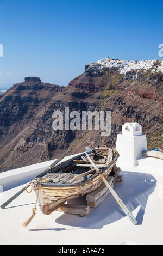
{"label": "arched white cap with small openings atop the whitewashed chimney", "polygon": [[139,136],[142,134],[142,126],[137,122],[125,123],[122,125],[122,134],[129,136]]}

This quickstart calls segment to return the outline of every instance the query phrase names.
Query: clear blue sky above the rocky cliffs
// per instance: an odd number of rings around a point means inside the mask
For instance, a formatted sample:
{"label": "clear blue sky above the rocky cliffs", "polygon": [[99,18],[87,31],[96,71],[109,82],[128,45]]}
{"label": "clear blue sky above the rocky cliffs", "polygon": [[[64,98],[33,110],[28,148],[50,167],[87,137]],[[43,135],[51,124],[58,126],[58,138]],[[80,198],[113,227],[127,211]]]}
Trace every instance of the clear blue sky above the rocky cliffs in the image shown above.
{"label": "clear blue sky above the rocky cliffs", "polygon": [[0,89],[39,76],[67,85],[112,57],[162,59],[162,1],[0,0]]}

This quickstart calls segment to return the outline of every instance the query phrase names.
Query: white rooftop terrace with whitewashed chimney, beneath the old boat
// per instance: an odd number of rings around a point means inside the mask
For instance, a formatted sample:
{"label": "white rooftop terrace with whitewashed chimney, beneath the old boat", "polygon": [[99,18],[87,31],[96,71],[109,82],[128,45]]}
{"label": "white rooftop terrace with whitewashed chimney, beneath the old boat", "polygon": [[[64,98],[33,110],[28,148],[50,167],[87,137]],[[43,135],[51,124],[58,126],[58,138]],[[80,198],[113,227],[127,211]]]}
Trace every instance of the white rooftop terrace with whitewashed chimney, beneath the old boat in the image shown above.
{"label": "white rooftop terrace with whitewashed chimney, beneath the old boat", "polygon": [[[36,201],[34,191],[30,194],[25,191],[6,208],[0,208],[0,244],[162,245],[163,160],[142,157],[147,147],[146,136],[134,130],[135,123],[125,125],[116,144],[120,152],[117,167],[121,168],[124,180],[116,183],[114,190],[136,217],[137,225],[129,221],[110,194],[98,208],[82,218],[58,211],[43,215],[37,205],[36,216],[24,228],[22,223],[30,217]],[[0,173],[0,185],[4,189],[0,193],[0,204],[53,161]],[[80,200],[82,202],[82,198]]]}

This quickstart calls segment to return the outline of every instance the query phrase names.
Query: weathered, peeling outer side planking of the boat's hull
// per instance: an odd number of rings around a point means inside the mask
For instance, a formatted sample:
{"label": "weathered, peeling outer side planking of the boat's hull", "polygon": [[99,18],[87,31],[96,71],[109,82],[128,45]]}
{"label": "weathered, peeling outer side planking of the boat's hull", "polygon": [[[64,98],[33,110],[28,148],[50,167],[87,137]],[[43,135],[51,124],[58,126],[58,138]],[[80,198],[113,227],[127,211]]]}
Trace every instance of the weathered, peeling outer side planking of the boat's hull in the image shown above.
{"label": "weathered, peeling outer side planking of the boat's hull", "polygon": [[[109,166],[103,169],[103,175],[105,178],[110,174],[112,167],[115,165],[117,157],[109,164]],[[61,203],[66,202],[68,199],[76,198],[90,193],[96,190],[103,183],[99,175],[96,175],[90,181],[86,181],[76,185],[67,186],[40,186],[39,190],[36,190],[36,196],[39,191],[39,205],[43,214],[49,215],[53,211],[57,210]]]}

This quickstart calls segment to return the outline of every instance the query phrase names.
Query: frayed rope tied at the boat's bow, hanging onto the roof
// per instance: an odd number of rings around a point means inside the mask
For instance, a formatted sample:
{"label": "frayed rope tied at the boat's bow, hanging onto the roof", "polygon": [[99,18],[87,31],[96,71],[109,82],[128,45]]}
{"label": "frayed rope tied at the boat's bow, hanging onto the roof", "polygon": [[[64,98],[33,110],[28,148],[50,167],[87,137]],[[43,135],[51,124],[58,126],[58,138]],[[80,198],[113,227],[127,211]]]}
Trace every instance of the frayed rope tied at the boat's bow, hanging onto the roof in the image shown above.
{"label": "frayed rope tied at the boat's bow, hanging onto the roof", "polygon": [[[27,219],[27,221],[25,221],[25,222],[22,224],[23,227],[27,227],[28,224],[33,220],[33,218],[34,218],[35,215],[36,215],[36,210],[37,210],[36,204],[37,204],[37,201],[38,201],[38,199],[39,199],[39,192],[40,192],[41,182],[49,182],[51,179],[48,179],[48,178],[39,178],[39,179],[34,179],[34,180],[37,181],[37,186],[36,186],[35,188],[32,187],[32,182],[30,182],[30,184],[28,184],[28,185],[26,186],[26,191],[27,191],[27,193],[31,193],[32,190],[38,190],[37,199],[36,199],[35,206],[34,206],[34,208],[32,209],[32,215],[30,216],[30,218]],[[34,181],[34,180],[33,180],[33,181]],[[30,191],[27,190],[27,188],[28,188],[29,186],[31,186]]]}

